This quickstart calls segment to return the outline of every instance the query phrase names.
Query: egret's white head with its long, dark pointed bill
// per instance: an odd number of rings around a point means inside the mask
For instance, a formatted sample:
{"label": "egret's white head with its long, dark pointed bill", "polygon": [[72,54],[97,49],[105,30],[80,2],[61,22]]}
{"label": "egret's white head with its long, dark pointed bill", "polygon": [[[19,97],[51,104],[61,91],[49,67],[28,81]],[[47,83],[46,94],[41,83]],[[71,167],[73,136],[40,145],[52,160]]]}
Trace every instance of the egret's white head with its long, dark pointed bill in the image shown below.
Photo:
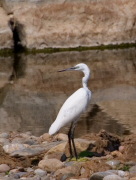
{"label": "egret's white head with its long, dark pointed bill", "polygon": [[80,64],[77,64],[76,66],[74,67],[71,67],[71,68],[68,68],[68,69],[63,69],[59,72],[63,72],[63,71],[90,71],[88,66],[84,63],[80,63]]}

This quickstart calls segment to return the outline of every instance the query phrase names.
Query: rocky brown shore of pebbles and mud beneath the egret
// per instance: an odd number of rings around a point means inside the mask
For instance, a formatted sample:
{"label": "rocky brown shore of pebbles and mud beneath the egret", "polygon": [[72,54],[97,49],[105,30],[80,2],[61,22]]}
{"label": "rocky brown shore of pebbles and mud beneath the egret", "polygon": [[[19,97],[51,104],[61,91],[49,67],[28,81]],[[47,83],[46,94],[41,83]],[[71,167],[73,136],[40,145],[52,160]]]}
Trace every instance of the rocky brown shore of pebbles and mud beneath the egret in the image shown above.
{"label": "rocky brown shore of pebbles and mud beneath the egret", "polygon": [[75,139],[79,159],[69,159],[67,135],[0,133],[0,180],[135,180],[136,135],[102,130]]}

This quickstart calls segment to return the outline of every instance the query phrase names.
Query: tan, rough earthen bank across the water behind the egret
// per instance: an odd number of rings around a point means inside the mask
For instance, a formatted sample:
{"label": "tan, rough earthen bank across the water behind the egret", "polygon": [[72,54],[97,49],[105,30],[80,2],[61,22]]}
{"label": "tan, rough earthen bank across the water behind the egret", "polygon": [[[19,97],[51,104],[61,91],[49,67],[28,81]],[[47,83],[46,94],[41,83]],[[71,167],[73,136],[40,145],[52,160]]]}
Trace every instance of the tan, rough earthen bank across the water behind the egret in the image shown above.
{"label": "tan, rough earthen bank across the water behind the egret", "polygon": [[135,43],[135,0],[3,0],[0,6],[1,48]]}

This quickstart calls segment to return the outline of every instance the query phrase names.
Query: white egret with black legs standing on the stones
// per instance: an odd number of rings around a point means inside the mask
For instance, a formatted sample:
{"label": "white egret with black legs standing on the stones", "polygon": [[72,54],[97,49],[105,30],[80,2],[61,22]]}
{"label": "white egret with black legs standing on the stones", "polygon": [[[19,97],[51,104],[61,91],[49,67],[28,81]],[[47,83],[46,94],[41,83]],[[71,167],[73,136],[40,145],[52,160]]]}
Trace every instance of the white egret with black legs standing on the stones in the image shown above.
{"label": "white egret with black legs standing on the stones", "polygon": [[86,110],[91,99],[91,91],[87,87],[87,82],[90,78],[90,69],[86,64],[81,63],[59,72],[63,71],[82,71],[84,73],[84,77],[82,78],[83,87],[74,92],[65,101],[57,115],[56,120],[49,129],[49,134],[55,134],[59,131],[60,128],[71,122],[71,126],[68,132],[69,150],[71,157],[73,157],[73,145],[74,154],[77,159],[77,151],[74,143],[74,130],[80,115]]}

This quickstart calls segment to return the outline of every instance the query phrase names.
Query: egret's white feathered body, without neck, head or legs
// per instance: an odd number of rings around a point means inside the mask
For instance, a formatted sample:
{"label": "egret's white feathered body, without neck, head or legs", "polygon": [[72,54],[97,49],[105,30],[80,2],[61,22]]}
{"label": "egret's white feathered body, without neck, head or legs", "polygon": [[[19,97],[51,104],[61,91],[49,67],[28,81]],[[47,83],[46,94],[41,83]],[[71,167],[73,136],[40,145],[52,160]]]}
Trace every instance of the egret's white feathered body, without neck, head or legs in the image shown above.
{"label": "egret's white feathered body, without neck, head or legs", "polygon": [[78,120],[82,112],[86,110],[89,100],[90,94],[84,88],[73,93],[61,107],[56,120],[49,129],[49,134],[53,135],[66,124]]}

